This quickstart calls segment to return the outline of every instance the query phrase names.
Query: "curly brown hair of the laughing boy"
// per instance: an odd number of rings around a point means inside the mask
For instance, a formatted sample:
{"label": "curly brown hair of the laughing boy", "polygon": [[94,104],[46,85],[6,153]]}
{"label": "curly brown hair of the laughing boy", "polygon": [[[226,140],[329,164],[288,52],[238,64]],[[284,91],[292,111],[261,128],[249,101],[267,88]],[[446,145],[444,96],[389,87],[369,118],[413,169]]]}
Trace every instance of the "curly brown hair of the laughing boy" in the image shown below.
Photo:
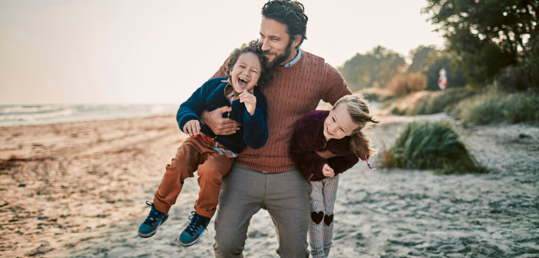
{"label": "curly brown hair of the laughing boy", "polygon": [[229,78],[229,81],[232,81],[232,75],[230,74],[232,72],[232,68],[234,68],[234,64],[238,61],[238,58],[241,54],[252,52],[255,55],[258,56],[258,61],[260,61],[260,77],[258,78],[258,87],[265,86],[271,81],[272,75],[270,73],[270,68],[268,67],[267,58],[264,55],[264,51],[262,51],[261,45],[257,40],[251,40],[247,44],[241,44],[241,47],[238,47],[230,53],[230,56],[226,62],[226,70],[225,70],[225,77]]}

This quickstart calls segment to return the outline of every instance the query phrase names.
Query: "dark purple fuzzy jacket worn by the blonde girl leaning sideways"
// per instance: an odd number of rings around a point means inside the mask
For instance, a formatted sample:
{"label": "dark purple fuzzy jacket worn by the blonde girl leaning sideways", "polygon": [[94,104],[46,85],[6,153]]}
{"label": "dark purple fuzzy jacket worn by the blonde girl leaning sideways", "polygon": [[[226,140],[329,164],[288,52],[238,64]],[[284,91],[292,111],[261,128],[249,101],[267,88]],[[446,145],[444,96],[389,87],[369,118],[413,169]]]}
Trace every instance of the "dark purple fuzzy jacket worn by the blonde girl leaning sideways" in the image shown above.
{"label": "dark purple fuzzy jacket worn by the blonde girl leaning sideways", "polygon": [[[303,176],[310,181],[326,178],[322,174],[324,164],[333,168],[335,175],[353,167],[360,159],[350,149],[350,137],[329,139],[324,137],[324,120],[329,111],[315,110],[301,118],[292,135],[292,160],[301,169]],[[336,157],[324,159],[315,152],[329,150]]]}

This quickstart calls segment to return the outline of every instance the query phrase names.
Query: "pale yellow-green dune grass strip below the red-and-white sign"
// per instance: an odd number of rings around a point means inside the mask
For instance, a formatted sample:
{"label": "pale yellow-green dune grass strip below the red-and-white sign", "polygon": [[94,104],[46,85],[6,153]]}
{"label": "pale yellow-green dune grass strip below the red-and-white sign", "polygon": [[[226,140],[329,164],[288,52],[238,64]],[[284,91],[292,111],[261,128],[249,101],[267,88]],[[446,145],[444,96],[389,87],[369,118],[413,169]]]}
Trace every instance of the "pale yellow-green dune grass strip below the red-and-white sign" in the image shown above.
{"label": "pale yellow-green dune grass strip below the red-and-white sign", "polygon": [[463,99],[474,96],[478,91],[468,88],[448,88],[444,91],[434,91],[421,97],[413,109],[406,114],[434,114],[452,109]]}

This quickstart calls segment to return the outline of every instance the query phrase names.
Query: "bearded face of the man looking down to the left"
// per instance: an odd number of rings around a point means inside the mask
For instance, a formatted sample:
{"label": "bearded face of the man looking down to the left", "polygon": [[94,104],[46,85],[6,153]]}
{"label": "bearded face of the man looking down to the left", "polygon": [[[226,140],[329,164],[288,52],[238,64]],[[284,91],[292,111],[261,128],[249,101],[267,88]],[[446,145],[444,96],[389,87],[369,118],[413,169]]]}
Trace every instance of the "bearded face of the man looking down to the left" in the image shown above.
{"label": "bearded face of the man looking down to the left", "polygon": [[295,57],[293,49],[298,45],[295,40],[290,40],[285,24],[266,17],[262,17],[260,24],[260,44],[271,67],[292,61]]}

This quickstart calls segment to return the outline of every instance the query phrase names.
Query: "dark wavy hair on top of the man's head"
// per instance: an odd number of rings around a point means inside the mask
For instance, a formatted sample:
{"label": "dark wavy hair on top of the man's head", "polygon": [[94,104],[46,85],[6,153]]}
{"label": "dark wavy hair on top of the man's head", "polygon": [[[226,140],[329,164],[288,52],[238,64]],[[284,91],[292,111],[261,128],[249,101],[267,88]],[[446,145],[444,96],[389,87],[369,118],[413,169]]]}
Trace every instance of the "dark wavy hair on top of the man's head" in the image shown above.
{"label": "dark wavy hair on top of the man's head", "polygon": [[296,35],[301,35],[301,41],[296,49],[301,46],[303,40],[307,39],[307,15],[303,4],[298,1],[273,0],[268,1],[262,6],[262,15],[269,19],[279,21],[286,25],[286,32],[290,35],[290,41],[295,39]]}

